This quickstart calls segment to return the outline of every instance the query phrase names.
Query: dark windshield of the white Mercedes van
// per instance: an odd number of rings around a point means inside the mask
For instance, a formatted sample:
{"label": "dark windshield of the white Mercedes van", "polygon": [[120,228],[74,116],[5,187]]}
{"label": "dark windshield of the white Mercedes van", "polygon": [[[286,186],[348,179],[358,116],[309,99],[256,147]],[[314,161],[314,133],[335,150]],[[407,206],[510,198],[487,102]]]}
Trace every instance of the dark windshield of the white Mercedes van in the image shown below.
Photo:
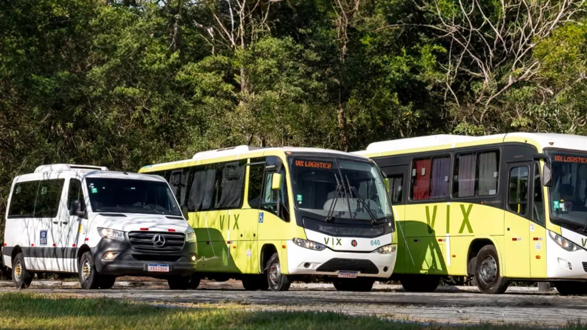
{"label": "dark windshield of the white Mercedes van", "polygon": [[86,186],[94,212],[181,215],[165,182],[87,178]]}

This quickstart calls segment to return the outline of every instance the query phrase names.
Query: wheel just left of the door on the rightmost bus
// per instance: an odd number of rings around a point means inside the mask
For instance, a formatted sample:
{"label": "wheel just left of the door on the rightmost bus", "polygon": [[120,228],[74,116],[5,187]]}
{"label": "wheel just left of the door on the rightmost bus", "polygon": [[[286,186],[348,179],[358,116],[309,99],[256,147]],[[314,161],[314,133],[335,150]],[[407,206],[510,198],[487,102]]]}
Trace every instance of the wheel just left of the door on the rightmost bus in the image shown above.
{"label": "wheel just left of the door on the rightmost bus", "polygon": [[484,294],[502,294],[510,281],[500,275],[500,261],[493,245],[485,245],[477,254],[475,282]]}

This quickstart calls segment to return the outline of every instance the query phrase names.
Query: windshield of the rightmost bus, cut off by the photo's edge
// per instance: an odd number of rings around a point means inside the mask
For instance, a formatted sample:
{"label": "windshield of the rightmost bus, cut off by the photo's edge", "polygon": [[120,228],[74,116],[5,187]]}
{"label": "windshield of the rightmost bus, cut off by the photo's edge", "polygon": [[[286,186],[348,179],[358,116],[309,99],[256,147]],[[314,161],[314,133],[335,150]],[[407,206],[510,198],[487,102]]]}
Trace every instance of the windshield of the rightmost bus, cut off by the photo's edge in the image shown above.
{"label": "windshield of the rightmost bus, cut off by the photo's edge", "polygon": [[587,153],[549,151],[552,163],[551,214],[587,227]]}

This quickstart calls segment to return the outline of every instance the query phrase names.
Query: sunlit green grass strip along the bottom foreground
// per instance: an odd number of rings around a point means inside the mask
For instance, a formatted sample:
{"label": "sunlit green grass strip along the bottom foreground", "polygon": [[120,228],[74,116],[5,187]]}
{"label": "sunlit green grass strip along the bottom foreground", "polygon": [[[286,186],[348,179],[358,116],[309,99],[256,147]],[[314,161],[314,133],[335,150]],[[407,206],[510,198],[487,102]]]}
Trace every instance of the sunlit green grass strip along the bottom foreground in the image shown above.
{"label": "sunlit green grass strip along the bottom foreground", "polygon": [[[106,298],[8,292],[0,294],[2,329],[463,329],[393,322],[333,312],[247,311],[244,306],[168,308]],[[398,321],[402,321],[399,319]],[[470,328],[471,326],[468,326]],[[519,329],[519,326],[475,326]],[[568,329],[582,328],[581,324]]]}

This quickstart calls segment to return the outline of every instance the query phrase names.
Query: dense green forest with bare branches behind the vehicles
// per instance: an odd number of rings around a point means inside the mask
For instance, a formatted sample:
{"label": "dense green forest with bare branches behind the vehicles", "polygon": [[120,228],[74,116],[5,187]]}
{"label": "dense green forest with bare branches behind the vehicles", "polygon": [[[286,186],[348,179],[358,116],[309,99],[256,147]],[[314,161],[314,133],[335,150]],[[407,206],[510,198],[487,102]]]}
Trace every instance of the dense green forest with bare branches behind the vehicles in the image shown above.
{"label": "dense green forest with bare branches behind the vehicles", "polygon": [[0,0],[0,211],[40,164],[586,134],[585,0]]}

